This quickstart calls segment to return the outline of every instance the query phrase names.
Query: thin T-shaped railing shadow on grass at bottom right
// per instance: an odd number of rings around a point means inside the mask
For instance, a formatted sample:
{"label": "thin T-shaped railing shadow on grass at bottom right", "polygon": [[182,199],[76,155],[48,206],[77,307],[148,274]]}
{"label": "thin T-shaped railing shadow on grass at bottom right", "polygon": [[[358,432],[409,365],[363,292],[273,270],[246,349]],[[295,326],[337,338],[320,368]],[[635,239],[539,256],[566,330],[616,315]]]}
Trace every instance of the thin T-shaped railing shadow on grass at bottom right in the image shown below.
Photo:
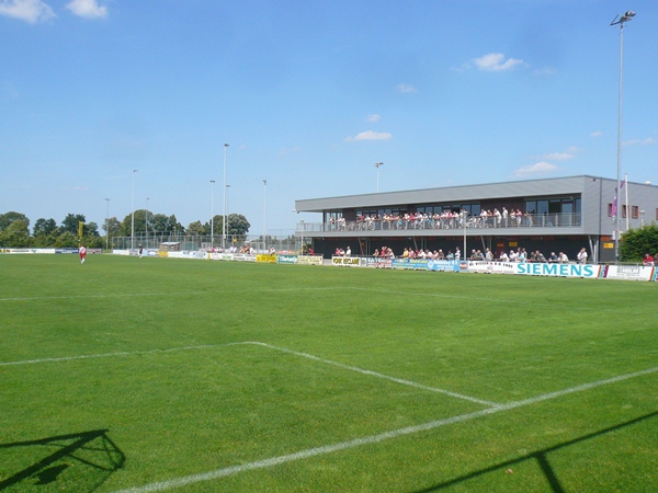
{"label": "thin T-shaped railing shadow on grass at bottom right", "polygon": [[581,436],[579,438],[575,438],[575,439],[569,440],[569,442],[565,442],[565,443],[556,445],[554,447],[544,448],[542,450],[537,450],[537,451],[534,451],[532,454],[527,454],[527,455],[519,457],[517,459],[508,460],[506,462],[500,462],[500,463],[497,463],[495,466],[491,466],[491,467],[488,467],[488,468],[485,468],[485,469],[480,469],[479,471],[470,472],[468,474],[462,475],[460,478],[455,478],[455,479],[450,480],[450,481],[445,481],[445,482],[440,483],[440,484],[435,484],[435,485],[427,488],[424,490],[418,490],[415,493],[431,493],[431,492],[434,492],[434,491],[443,490],[444,488],[454,486],[456,484],[460,484],[460,483],[463,483],[465,481],[478,478],[478,477],[484,475],[484,474],[488,474],[490,472],[494,472],[494,471],[497,471],[497,470],[500,470],[500,469],[510,468],[511,466],[521,463],[521,462],[523,462],[525,460],[536,460],[537,463],[540,465],[540,468],[542,469],[542,472],[544,473],[544,477],[546,478],[546,482],[548,483],[548,486],[551,488],[551,490],[554,493],[564,493],[566,490],[560,484],[559,479],[555,474],[555,471],[551,467],[551,462],[548,461],[548,459],[546,457],[549,452],[559,450],[561,448],[570,447],[571,445],[576,445],[576,444],[578,444],[580,442],[589,440],[590,438],[595,438],[598,436],[605,435],[606,433],[611,433],[611,432],[614,432],[614,431],[617,431],[617,429],[622,429],[622,428],[624,428],[626,426],[632,426],[634,424],[640,423],[640,422],[643,422],[645,420],[650,420],[651,417],[656,417],[656,416],[658,416],[658,411],[649,413],[649,414],[645,414],[644,416],[636,417],[635,420],[631,420],[631,421],[627,421],[625,423],[621,423],[619,425],[611,426],[609,428],[603,428],[603,429],[601,429],[599,432],[594,432],[594,433],[591,433],[589,435],[585,435],[585,436]]}

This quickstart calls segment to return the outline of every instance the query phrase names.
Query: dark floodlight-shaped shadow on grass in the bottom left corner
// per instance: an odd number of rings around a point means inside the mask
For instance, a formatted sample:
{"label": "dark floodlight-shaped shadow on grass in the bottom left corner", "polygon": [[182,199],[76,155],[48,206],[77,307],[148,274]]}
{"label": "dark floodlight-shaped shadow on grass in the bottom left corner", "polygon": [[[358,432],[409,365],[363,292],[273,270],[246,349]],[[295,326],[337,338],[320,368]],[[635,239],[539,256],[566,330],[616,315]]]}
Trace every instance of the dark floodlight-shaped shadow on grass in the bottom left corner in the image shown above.
{"label": "dark floodlight-shaped shadow on grass in the bottom left corner", "polygon": [[0,477],[0,491],[12,486],[45,491],[50,485],[57,491],[92,492],[121,469],[125,459],[107,429],[0,444],[0,469],[12,469],[9,478]]}

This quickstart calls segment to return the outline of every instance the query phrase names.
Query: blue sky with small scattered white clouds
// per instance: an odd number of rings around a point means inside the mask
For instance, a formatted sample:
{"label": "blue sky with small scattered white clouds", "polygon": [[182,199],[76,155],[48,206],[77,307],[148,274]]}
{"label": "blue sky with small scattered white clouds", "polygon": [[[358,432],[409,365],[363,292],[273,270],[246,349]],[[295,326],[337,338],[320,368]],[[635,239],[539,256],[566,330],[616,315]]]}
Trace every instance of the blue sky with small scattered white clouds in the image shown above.
{"label": "blue sky with small scattered white clouds", "polygon": [[[508,180],[658,183],[658,2],[0,0],[0,214],[228,213]],[[266,186],[263,184],[266,180]],[[266,198],[265,198],[266,197]],[[102,231],[101,231],[102,233]]]}

